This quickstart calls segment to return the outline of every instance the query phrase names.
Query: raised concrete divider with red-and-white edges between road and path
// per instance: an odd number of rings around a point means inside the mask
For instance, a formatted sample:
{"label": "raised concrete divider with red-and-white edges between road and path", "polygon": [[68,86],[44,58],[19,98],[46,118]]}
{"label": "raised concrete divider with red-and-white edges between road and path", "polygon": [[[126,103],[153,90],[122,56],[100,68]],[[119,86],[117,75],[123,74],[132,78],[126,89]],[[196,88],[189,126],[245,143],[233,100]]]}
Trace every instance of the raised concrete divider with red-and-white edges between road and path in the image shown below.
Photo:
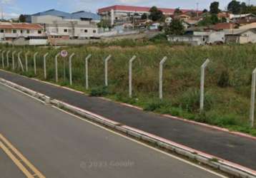
{"label": "raised concrete divider with red-and-white edges between road and path", "polygon": [[200,152],[198,150],[194,150],[192,148],[186,147],[184,145],[180,145],[176,142],[172,142],[170,140],[166,140],[162,137],[157,137],[156,135],[149,134],[148,132],[143,132],[142,130],[137,130],[133,127],[128,127],[126,125],[122,125],[122,123],[114,122],[100,115],[94,114],[87,110],[83,110],[81,108],[74,107],[73,105],[69,105],[67,103],[61,102],[59,100],[54,100],[49,98],[46,95],[41,93],[37,93],[34,90],[30,90],[28,88],[24,88],[20,85],[16,85],[15,83],[11,83],[8,80],[4,80],[0,78],[0,83],[7,85],[11,88],[15,88],[23,93],[33,96],[44,103],[48,103],[54,105],[58,108],[68,110],[76,115],[80,115],[82,117],[86,117],[89,120],[97,122],[101,125],[106,125],[107,127],[111,127],[114,130],[119,132],[123,132],[126,135],[131,137],[136,137],[139,140],[143,140],[145,142],[149,142],[151,144],[157,145],[158,147],[162,147],[166,150],[176,152],[178,155],[182,155],[184,157],[188,157],[189,159],[194,159],[197,162],[201,162],[202,164],[207,164],[210,167],[215,169],[219,169],[222,172],[227,174],[232,174],[236,177],[245,177],[251,178],[256,177],[256,171],[249,169],[247,167],[242,167],[239,164],[234,164],[225,159],[221,159],[220,157],[215,157],[212,155],[208,155],[205,152]]}

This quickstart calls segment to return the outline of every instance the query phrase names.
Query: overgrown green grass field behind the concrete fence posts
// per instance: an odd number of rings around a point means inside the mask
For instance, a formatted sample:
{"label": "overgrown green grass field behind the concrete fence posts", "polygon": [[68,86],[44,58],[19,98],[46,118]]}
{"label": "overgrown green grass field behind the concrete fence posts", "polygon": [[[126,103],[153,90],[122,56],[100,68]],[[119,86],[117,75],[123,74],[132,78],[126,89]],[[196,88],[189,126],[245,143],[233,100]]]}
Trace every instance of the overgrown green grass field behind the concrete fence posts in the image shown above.
{"label": "overgrown green grass field behind the concrete fence posts", "polygon": [[[256,67],[256,46],[174,46],[165,41],[166,38],[159,35],[152,41],[117,41],[65,48],[69,53],[76,54],[72,88],[92,96],[104,96],[137,105],[147,111],[184,117],[256,136],[256,129],[249,127],[248,118],[251,73]],[[8,46],[2,48],[11,49]],[[43,55],[49,52],[47,80],[54,82],[54,56],[63,48],[16,47],[16,51],[31,51],[29,73],[21,73],[20,70],[16,70],[16,73],[44,80]],[[36,76],[33,73],[34,51],[40,51]],[[89,53],[92,54],[89,59],[90,90],[85,91],[84,58]],[[104,58],[109,54],[112,55],[109,60],[109,87],[104,87]],[[133,66],[134,95],[131,99],[128,98],[128,61],[134,55],[137,59]],[[164,64],[164,100],[159,100],[159,61],[164,56],[168,57]],[[206,58],[210,58],[211,63],[206,70],[205,112],[200,114],[200,66]],[[24,63],[24,53],[21,59]],[[64,80],[64,60],[59,58],[59,85],[70,87],[67,60],[67,76]]]}

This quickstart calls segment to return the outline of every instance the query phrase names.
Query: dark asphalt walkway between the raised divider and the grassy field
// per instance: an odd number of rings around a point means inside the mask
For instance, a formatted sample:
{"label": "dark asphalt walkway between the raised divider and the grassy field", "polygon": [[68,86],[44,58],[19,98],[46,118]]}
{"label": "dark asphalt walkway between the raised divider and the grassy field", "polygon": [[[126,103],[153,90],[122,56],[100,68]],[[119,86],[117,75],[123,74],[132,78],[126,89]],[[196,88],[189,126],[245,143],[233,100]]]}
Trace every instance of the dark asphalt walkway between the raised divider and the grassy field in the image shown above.
{"label": "dark asphalt walkway between the raised divider and the grassy field", "polygon": [[256,170],[256,141],[250,138],[193,125],[182,120],[172,120],[101,98],[91,98],[71,90],[24,78],[21,75],[0,71],[0,78],[102,115],[109,120],[121,122],[124,125]]}

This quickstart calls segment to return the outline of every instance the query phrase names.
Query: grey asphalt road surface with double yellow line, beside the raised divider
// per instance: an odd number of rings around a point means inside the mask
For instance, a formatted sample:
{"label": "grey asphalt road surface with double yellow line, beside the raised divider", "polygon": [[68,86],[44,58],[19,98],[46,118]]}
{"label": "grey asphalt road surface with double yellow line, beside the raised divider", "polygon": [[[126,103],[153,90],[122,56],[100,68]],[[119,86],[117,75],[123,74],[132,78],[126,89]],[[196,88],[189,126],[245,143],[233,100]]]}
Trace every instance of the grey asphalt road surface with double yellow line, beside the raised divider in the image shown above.
{"label": "grey asphalt road surface with double yellow line, beside the raised divider", "polygon": [[[4,85],[0,98],[1,135],[46,177],[220,177]],[[0,177],[24,177],[1,150]]]}

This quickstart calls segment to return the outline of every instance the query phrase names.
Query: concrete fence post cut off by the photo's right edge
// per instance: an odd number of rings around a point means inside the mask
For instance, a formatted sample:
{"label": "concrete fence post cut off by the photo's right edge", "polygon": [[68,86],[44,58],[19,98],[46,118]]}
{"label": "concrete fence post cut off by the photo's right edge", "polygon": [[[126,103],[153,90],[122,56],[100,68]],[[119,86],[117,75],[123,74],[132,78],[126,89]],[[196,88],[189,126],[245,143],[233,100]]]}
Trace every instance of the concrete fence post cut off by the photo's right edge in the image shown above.
{"label": "concrete fence post cut off by the photo's right edge", "polygon": [[251,127],[254,127],[254,121],[255,121],[255,85],[256,85],[256,68],[252,72],[252,93],[251,93],[251,107],[250,107]]}

